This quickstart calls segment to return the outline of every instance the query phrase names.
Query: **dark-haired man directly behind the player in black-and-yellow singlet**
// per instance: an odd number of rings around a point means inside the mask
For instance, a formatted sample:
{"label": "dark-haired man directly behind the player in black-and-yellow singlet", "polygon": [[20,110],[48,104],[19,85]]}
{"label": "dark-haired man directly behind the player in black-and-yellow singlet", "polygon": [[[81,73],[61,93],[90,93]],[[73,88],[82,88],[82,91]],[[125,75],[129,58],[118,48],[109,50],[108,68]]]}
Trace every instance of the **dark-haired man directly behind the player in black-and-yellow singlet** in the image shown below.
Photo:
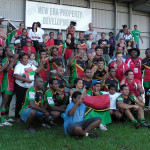
{"label": "dark-haired man directly behind the player in black-and-yellow singlet", "polygon": [[108,65],[108,61],[106,58],[103,57],[103,48],[101,48],[100,46],[96,46],[95,48],[95,55],[93,54],[91,56],[91,58],[88,60],[88,68],[91,68],[92,66],[96,66],[97,65],[97,60],[99,58],[104,59],[104,64]]}

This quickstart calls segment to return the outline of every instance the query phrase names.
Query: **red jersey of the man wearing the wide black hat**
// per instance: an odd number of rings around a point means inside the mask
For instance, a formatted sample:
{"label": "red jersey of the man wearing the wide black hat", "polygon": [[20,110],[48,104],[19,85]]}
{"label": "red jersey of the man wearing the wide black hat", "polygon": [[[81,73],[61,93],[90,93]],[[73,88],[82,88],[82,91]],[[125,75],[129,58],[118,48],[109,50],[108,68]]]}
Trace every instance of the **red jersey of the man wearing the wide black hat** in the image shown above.
{"label": "red jersey of the man wearing the wide black hat", "polygon": [[134,78],[142,81],[142,58],[138,57],[137,60],[128,58],[126,64],[133,71]]}

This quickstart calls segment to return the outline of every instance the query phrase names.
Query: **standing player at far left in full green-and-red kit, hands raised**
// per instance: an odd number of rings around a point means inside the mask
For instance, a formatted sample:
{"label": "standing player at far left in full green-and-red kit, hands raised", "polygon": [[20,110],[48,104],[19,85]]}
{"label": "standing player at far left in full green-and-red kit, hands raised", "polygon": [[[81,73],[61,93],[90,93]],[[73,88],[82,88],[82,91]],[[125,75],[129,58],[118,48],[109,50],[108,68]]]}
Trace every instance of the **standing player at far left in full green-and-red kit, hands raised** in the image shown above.
{"label": "standing player at far left in full green-and-red kit, hands raised", "polygon": [[3,93],[3,100],[1,105],[1,123],[3,125],[12,125],[6,120],[9,119],[9,105],[14,93],[14,67],[19,54],[16,54],[13,58],[12,49],[7,47],[5,49],[5,55],[6,57],[2,60],[2,65],[4,66],[4,74],[1,87],[1,91]]}

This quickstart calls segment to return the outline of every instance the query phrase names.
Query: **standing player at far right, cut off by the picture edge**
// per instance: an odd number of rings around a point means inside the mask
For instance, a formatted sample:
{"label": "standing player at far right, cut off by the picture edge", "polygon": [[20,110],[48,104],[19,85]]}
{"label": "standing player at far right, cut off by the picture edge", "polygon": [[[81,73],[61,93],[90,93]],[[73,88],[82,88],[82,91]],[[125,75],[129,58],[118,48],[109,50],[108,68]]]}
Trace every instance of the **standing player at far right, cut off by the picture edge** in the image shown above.
{"label": "standing player at far right, cut off by the picture edge", "polygon": [[[145,89],[145,106],[149,106],[148,110],[150,110],[150,48],[147,48],[145,51],[146,57],[142,60],[142,69],[144,72],[144,89]],[[148,93],[147,93],[148,92]]]}

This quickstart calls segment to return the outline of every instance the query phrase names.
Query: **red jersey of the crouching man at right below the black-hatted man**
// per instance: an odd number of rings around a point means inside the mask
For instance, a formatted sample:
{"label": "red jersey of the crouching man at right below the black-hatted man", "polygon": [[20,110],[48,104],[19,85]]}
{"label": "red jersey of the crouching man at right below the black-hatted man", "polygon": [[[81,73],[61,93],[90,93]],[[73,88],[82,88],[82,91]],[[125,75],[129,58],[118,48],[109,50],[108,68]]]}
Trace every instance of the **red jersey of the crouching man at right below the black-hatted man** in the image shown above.
{"label": "red jersey of the crouching man at right below the black-hatted man", "polygon": [[133,92],[135,96],[139,96],[140,95],[140,91],[139,91],[139,88],[138,88],[138,84],[141,85],[141,87],[143,88],[142,86],[142,83],[140,80],[137,80],[137,79],[133,79],[133,82],[130,84],[128,82],[128,80],[126,79],[125,80],[125,84],[129,87],[129,92]]}

